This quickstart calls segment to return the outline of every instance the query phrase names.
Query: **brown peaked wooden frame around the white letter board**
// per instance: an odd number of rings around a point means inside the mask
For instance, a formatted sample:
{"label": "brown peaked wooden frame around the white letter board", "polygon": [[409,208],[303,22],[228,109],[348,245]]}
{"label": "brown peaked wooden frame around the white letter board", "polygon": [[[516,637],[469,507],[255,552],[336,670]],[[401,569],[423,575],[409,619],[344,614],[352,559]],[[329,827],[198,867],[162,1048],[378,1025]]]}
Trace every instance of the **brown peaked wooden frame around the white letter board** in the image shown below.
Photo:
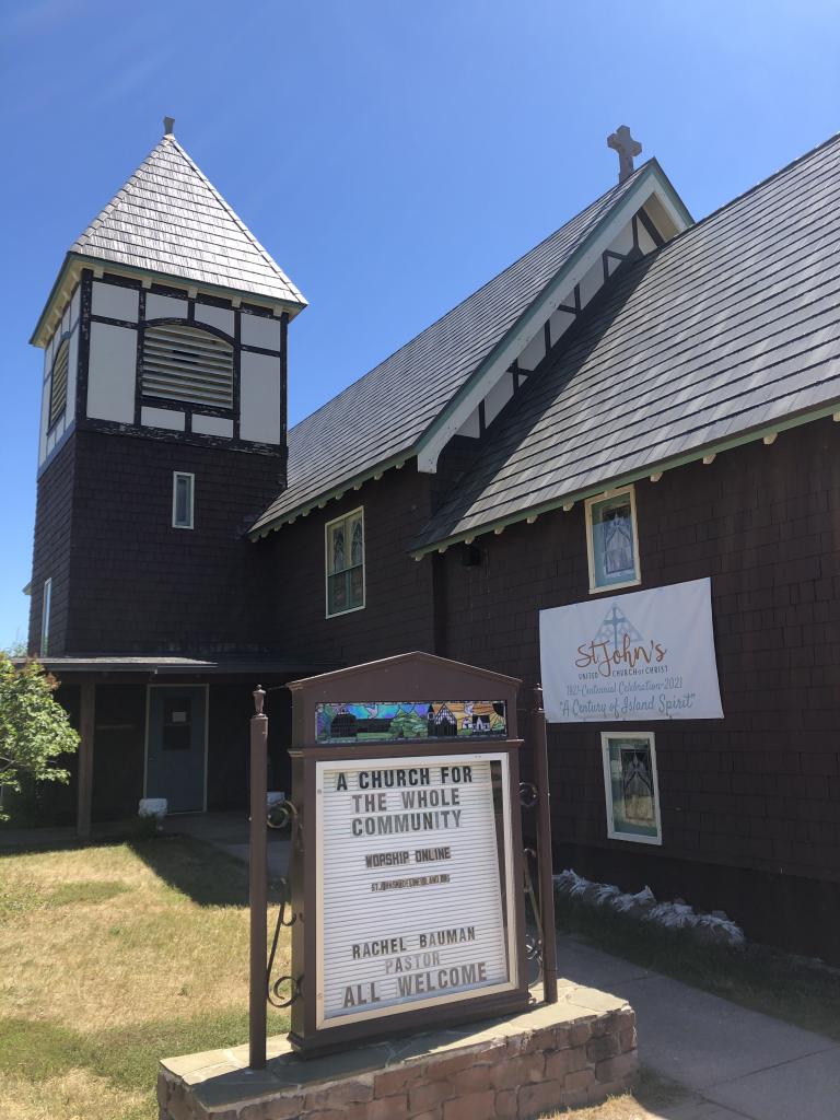
{"label": "brown peaked wooden frame around the white letter board", "polygon": [[[523,1010],[530,1001],[525,955],[525,916],[522,831],[519,801],[519,753],[516,737],[516,697],[520,682],[514,678],[475,669],[459,662],[411,653],[381,662],[357,665],[320,676],[295,681],[292,691],[292,802],[302,840],[302,858],[291,871],[292,976],[300,978],[299,996],[291,1007],[289,1040],[301,1055],[323,1054],[365,1042],[392,1038],[470,1019],[494,1018]],[[318,704],[349,704],[380,701],[423,702],[495,700],[505,702],[506,737],[469,735],[460,738],[420,738],[375,743],[317,741]],[[506,834],[500,846],[502,912],[507,946],[508,980],[492,991],[475,988],[455,996],[418,1000],[373,1014],[349,1015],[345,1021],[323,1014],[319,993],[324,990],[321,960],[324,920],[323,884],[319,878],[319,774],[346,762],[388,763],[399,767],[422,759],[498,760],[506,772],[503,820]],[[431,762],[431,765],[435,765]]]}

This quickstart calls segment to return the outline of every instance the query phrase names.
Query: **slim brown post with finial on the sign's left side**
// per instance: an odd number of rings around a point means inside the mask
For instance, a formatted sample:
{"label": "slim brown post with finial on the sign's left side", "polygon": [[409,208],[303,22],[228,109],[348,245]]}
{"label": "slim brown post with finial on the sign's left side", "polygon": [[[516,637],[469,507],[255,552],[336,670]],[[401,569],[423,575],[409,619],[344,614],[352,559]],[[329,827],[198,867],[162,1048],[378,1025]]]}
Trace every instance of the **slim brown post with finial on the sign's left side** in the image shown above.
{"label": "slim brown post with finial on the sign's left side", "polygon": [[249,1057],[252,1070],[265,1068],[265,956],[268,952],[268,800],[269,720],[262,706],[265,692],[254,691],[255,715],[251,717],[251,849],[249,899],[251,904],[251,973],[249,989]]}

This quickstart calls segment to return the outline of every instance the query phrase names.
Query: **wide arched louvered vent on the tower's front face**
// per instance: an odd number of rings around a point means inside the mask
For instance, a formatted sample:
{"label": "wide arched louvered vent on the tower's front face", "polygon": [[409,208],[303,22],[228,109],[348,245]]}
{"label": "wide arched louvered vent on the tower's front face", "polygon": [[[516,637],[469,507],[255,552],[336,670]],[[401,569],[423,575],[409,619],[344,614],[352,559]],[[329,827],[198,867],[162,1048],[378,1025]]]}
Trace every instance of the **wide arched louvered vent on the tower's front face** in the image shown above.
{"label": "wide arched louvered vent on the tower's front face", "polygon": [[233,347],[181,324],[146,328],[143,393],[174,401],[233,407]]}

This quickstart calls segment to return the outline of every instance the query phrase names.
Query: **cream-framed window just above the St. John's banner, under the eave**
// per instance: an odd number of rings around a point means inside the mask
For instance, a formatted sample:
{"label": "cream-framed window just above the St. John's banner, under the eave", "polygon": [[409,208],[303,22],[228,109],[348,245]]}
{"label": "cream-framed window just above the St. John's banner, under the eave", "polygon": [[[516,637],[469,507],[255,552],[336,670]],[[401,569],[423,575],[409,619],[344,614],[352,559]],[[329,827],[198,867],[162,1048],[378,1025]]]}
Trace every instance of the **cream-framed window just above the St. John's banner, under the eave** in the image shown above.
{"label": "cream-framed window just above the St. John's banner, under the eave", "polygon": [[586,503],[586,532],[590,594],[642,582],[632,486],[590,497]]}

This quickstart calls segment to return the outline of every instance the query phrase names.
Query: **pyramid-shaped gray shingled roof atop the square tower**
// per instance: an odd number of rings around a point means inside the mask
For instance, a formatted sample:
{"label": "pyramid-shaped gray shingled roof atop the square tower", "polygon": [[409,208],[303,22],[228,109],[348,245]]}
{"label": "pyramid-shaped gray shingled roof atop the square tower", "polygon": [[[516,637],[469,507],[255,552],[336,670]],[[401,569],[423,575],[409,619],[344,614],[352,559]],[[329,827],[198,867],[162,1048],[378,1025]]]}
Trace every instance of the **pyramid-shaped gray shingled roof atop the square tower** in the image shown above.
{"label": "pyramid-shaped gray shingled roof atop the square tower", "polygon": [[164,137],[69,251],[306,306],[172,136]]}

